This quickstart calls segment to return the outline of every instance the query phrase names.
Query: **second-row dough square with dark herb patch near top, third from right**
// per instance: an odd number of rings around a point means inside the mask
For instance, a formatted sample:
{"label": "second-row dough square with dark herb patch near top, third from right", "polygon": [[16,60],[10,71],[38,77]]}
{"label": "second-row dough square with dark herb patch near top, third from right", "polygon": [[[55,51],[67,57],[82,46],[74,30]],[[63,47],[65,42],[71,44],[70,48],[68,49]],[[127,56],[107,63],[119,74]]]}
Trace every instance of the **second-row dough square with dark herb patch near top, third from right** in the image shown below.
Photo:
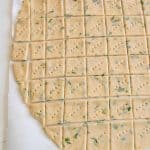
{"label": "second-row dough square with dark herb patch near top, third from right", "polygon": [[123,17],[107,16],[107,35],[125,35]]}

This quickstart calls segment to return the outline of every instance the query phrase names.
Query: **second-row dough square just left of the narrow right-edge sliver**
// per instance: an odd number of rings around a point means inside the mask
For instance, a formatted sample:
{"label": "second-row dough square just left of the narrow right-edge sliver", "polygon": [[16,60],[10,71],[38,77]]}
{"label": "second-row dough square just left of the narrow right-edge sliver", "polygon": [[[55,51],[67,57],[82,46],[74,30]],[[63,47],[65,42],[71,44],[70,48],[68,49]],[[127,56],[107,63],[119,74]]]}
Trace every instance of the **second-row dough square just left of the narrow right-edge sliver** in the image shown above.
{"label": "second-row dough square just left of the narrow right-edge sliver", "polygon": [[125,28],[127,35],[145,35],[144,19],[142,16],[126,16]]}

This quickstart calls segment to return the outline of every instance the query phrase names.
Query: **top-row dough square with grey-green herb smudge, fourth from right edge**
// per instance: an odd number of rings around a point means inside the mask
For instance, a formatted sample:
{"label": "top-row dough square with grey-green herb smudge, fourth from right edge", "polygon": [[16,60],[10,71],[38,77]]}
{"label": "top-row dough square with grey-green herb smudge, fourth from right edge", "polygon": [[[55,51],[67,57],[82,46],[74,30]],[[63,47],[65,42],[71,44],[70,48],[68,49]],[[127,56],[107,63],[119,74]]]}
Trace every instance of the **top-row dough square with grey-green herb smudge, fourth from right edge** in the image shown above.
{"label": "top-row dough square with grey-green herb smudge, fourth from right edge", "polygon": [[84,9],[86,15],[104,15],[103,1],[85,0]]}

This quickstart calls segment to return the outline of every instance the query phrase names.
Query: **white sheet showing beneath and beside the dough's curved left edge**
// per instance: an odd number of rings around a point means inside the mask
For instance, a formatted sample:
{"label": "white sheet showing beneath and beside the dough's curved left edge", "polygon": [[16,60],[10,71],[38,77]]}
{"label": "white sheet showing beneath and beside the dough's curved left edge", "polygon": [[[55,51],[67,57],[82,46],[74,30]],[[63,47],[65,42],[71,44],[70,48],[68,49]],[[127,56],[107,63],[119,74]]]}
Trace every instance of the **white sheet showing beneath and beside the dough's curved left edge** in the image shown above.
{"label": "white sheet showing beneath and beside the dough's curved left edge", "polygon": [[[21,0],[13,2],[13,26]],[[44,134],[40,124],[34,120],[20,96],[14,80],[11,62],[9,66],[8,96],[8,150],[56,150],[57,147]]]}

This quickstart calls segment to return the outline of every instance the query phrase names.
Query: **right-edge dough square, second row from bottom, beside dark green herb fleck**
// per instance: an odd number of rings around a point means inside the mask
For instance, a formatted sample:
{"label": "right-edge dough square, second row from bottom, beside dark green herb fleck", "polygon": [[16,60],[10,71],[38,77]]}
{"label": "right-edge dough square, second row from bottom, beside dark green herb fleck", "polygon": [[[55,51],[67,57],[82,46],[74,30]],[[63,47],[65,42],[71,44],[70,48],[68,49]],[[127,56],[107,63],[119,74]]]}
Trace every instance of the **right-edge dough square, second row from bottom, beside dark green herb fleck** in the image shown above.
{"label": "right-edge dough square, second row from bottom, beside dark green herb fleck", "polygon": [[133,105],[135,118],[149,118],[150,98],[133,98]]}

